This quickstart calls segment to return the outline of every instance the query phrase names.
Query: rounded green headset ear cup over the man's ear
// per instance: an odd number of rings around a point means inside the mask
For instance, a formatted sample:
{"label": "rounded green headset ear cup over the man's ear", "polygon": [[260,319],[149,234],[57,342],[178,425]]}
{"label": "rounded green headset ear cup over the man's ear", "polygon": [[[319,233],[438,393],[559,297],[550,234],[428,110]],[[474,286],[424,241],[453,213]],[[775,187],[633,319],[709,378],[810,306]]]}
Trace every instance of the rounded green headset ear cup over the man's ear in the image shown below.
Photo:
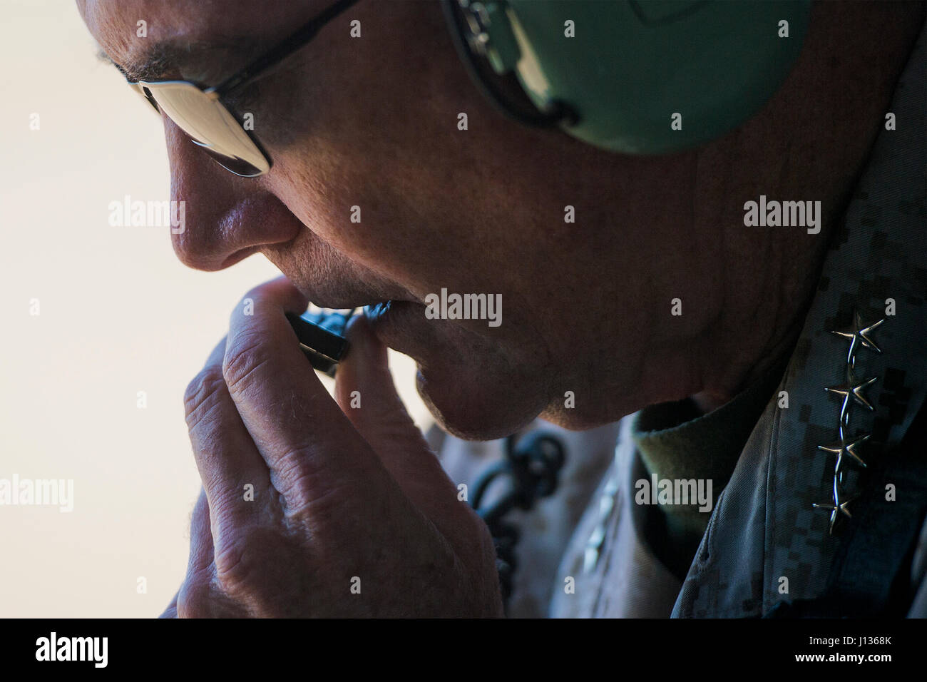
{"label": "rounded green headset ear cup over the man's ear", "polygon": [[508,20],[535,105],[565,102],[579,115],[565,132],[632,154],[691,148],[753,116],[792,69],[810,14],[809,0],[486,5]]}

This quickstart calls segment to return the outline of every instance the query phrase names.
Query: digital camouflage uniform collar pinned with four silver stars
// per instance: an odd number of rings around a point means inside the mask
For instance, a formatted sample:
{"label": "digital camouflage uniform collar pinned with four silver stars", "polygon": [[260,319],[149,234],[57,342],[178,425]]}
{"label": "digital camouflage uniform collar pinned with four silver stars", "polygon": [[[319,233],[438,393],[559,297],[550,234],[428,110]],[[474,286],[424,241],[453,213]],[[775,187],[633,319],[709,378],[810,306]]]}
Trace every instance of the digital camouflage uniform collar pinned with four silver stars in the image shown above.
{"label": "digital camouflage uniform collar pinned with four silver stars", "polygon": [[[832,239],[818,290],[779,390],[738,460],[679,593],[674,615],[761,615],[783,600],[819,598],[840,545],[830,533],[841,399],[826,387],[846,381],[850,340],[832,333],[884,319],[871,335],[882,353],[857,338],[855,374],[876,378],[860,389],[844,431],[870,433],[864,459],[892,457],[927,393],[927,117],[925,32],[908,58],[883,129]],[[781,397],[786,402],[783,405]],[[852,467],[844,483],[855,492]],[[902,483],[899,482],[899,485]],[[883,495],[883,491],[865,491]],[[899,490],[899,495],[901,491]],[[852,512],[853,503],[849,504]],[[838,514],[842,522],[852,523]]]}

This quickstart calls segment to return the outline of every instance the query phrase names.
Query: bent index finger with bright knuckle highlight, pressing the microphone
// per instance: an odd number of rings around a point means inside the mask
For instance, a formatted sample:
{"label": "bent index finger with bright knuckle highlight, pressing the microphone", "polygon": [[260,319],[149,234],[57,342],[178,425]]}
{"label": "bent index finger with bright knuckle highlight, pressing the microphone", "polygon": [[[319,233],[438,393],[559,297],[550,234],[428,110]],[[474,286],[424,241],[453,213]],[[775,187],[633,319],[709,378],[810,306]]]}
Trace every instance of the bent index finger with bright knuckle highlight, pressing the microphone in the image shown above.
{"label": "bent index finger with bright knuckle highlight, pressing the microphone", "polygon": [[252,315],[233,313],[222,370],[286,506],[373,490],[386,472],[325,391],[286,320],[285,313],[305,310],[306,299],[283,278],[248,298]]}

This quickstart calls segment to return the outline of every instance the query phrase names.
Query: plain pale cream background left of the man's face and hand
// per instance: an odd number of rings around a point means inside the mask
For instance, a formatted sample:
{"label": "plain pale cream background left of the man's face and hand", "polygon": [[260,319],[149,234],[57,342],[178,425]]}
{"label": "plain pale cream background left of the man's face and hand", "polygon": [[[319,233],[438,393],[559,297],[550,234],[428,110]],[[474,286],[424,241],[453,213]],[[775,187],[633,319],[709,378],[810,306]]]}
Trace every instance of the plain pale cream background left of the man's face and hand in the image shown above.
{"label": "plain pale cream background left of the man's face and hand", "polygon": [[[261,256],[195,272],[167,228],[108,225],[110,201],[168,199],[169,176],[158,118],[95,51],[70,0],[3,0],[0,478],[74,480],[70,514],[0,507],[4,617],[167,605],[199,489],[184,387],[235,303],[277,275]],[[425,425],[412,362],[391,363]]]}

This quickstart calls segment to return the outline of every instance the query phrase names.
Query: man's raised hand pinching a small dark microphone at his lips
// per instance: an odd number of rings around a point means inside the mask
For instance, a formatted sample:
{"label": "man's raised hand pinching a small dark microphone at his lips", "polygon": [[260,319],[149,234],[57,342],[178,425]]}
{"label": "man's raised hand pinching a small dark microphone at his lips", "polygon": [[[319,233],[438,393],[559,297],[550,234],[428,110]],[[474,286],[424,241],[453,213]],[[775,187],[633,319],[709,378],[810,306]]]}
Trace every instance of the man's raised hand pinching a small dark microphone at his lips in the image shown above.
{"label": "man's raised hand pinching a small dark microphone at his lips", "polygon": [[305,298],[286,278],[248,298],[254,315],[235,311],[187,388],[203,494],[165,615],[502,615],[489,531],[409,418],[366,319],[350,325],[336,402],[284,316]]}

